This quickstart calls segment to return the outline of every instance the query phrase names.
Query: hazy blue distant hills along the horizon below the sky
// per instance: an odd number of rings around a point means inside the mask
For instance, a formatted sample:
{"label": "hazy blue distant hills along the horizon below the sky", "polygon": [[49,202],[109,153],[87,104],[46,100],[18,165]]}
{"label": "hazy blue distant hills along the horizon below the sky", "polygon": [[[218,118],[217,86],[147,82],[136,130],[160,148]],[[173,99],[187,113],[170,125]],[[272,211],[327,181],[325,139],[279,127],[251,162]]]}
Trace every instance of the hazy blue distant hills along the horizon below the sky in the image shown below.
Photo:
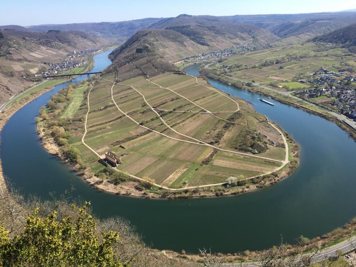
{"label": "hazy blue distant hills along the horizon below the sky", "polygon": [[[164,28],[174,21],[182,20],[184,14],[172,18],[145,18],[131,21],[119,22],[87,22],[70,24],[47,24],[28,26],[23,31],[43,32],[48,30],[61,31],[85,31],[105,38],[115,38],[126,40],[136,31],[148,28]],[[190,16],[190,15],[188,15]],[[303,14],[267,14],[267,15],[234,15],[234,16],[195,16],[210,21],[225,21],[230,23],[240,23],[261,27],[272,34],[284,38],[291,35],[310,32],[313,35],[321,35],[326,32],[336,30],[356,21],[354,10],[344,10],[339,12],[320,12]],[[159,26],[161,25],[161,26]],[[6,25],[7,28],[16,25]],[[178,26],[178,25],[169,25]],[[21,27],[21,26],[18,26]],[[0,26],[3,29],[4,26]],[[22,27],[24,28],[24,27]]]}

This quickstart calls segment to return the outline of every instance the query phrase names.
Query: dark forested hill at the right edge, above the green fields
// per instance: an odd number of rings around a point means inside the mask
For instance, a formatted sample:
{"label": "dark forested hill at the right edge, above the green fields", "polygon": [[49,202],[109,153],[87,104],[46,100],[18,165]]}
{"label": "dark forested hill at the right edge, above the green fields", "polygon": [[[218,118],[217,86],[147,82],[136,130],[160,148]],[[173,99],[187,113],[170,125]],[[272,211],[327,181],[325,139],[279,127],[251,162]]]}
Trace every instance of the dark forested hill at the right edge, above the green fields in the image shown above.
{"label": "dark forested hill at the right edge, above the green fields", "polygon": [[340,28],[338,30],[317,36],[313,39],[314,42],[336,43],[346,48],[354,47],[356,50],[356,23]]}

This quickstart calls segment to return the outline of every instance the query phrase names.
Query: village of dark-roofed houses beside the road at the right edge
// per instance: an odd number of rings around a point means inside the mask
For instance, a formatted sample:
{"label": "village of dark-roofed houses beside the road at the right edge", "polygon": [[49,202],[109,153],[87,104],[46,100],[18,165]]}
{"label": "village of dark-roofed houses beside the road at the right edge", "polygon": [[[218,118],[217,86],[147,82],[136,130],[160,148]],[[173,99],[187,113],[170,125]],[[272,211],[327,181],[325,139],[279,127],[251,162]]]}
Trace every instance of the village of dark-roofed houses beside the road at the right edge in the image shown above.
{"label": "village of dark-roofed houses beside the road at the right edge", "polygon": [[317,88],[295,91],[293,94],[356,121],[356,87],[352,84],[356,82],[356,77],[348,75],[348,72],[335,73],[322,69],[314,73],[314,76],[319,74],[321,77],[315,77],[314,80],[300,81],[314,84]]}

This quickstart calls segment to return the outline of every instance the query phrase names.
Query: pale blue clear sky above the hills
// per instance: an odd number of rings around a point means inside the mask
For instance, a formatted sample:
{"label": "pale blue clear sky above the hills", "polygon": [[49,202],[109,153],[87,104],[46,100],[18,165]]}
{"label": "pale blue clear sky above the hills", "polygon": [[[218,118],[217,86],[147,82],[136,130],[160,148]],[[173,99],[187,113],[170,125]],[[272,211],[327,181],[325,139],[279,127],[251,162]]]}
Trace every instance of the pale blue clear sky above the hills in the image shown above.
{"label": "pale blue clear sky above the hills", "polygon": [[124,21],[145,17],[330,12],[355,9],[355,0],[0,0],[0,25]]}

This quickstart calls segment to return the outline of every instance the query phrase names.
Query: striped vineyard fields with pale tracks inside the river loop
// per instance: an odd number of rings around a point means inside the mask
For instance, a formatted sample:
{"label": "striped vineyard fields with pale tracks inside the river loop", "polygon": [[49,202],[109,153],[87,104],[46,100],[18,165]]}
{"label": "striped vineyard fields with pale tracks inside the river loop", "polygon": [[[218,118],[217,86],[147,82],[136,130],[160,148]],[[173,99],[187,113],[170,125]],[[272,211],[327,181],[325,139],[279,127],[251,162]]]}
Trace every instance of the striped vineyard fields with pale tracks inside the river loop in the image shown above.
{"label": "striped vineyard fields with pale tracks inside the river loop", "polygon": [[[103,158],[111,151],[121,157],[119,171],[179,189],[248,179],[288,162],[284,136],[265,116],[204,79],[171,72],[114,84],[115,78],[103,77],[91,88],[89,112],[82,87],[64,111],[76,118],[68,143],[95,172],[105,169],[95,153]],[[84,142],[95,153],[82,143],[87,112]],[[250,132],[263,151],[238,144]]]}

